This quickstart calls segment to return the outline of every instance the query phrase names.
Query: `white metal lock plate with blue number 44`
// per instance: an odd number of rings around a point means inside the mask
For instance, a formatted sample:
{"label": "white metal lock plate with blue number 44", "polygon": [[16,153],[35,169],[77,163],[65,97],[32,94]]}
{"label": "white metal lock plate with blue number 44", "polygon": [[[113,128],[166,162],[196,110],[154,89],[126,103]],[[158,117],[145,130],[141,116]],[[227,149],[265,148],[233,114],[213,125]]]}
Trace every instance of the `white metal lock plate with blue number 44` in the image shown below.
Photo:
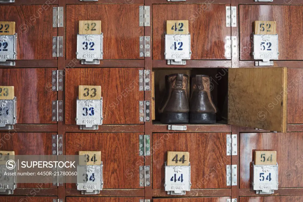
{"label": "white metal lock plate with blue number 44", "polygon": [[171,195],[185,195],[190,191],[190,163],[189,166],[167,166],[165,162],[165,191]]}

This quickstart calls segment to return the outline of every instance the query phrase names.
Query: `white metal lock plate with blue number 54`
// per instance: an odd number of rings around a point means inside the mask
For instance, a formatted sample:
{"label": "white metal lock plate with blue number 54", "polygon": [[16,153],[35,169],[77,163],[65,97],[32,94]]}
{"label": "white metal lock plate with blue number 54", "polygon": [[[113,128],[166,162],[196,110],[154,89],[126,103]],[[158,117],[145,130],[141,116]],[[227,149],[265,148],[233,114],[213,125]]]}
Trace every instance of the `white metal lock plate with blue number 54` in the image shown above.
{"label": "white metal lock plate with blue number 54", "polygon": [[256,194],[273,194],[278,190],[278,163],[276,165],[255,165],[252,163],[252,189]]}

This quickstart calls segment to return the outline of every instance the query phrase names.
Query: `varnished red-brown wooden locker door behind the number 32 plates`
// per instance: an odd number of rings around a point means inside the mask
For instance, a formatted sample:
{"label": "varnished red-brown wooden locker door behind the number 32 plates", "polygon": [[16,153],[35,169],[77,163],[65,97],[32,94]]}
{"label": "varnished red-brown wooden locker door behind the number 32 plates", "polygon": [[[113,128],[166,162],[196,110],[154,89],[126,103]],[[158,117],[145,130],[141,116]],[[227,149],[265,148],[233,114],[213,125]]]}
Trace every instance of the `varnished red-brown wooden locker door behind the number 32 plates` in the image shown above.
{"label": "varnished red-brown wooden locker door behind the number 32 plates", "polygon": [[144,27],[139,27],[139,5],[143,4],[67,5],[66,59],[76,58],[79,20],[101,20],[103,59],[140,59]]}

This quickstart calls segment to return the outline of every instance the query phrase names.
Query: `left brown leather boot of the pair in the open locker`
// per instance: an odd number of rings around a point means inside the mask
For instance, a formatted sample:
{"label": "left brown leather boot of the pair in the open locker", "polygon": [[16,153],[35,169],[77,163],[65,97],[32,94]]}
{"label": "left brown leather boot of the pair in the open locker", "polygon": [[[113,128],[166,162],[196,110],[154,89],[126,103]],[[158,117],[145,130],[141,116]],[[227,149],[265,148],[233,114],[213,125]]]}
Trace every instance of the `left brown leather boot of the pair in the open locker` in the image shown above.
{"label": "left brown leather boot of the pair in the open locker", "polygon": [[187,83],[185,74],[165,76],[165,94],[158,109],[161,123],[188,123]]}

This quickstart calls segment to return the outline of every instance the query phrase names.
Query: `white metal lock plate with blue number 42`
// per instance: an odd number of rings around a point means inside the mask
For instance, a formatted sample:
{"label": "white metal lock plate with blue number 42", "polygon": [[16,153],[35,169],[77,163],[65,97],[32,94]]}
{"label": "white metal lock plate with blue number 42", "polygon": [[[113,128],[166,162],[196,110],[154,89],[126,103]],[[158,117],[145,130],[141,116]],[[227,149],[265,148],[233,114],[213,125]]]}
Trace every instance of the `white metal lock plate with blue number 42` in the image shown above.
{"label": "white metal lock plate with blue number 42", "polygon": [[181,62],[189,60],[190,51],[190,34],[166,34],[165,35],[165,52],[166,60]]}

